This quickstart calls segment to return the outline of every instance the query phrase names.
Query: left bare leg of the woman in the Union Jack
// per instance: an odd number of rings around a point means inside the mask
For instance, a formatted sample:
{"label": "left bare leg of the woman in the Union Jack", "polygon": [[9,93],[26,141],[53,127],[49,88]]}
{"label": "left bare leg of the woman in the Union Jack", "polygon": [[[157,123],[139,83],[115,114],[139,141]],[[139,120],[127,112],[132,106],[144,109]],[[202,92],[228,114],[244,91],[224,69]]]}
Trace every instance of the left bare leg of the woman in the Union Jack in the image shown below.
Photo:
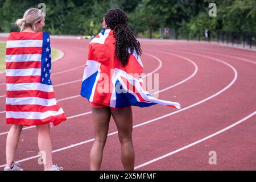
{"label": "left bare leg of the woman in the Union Jack", "polygon": [[103,149],[108,137],[110,108],[94,108],[92,107],[93,125],[94,125],[94,143],[90,151],[90,170],[100,170]]}

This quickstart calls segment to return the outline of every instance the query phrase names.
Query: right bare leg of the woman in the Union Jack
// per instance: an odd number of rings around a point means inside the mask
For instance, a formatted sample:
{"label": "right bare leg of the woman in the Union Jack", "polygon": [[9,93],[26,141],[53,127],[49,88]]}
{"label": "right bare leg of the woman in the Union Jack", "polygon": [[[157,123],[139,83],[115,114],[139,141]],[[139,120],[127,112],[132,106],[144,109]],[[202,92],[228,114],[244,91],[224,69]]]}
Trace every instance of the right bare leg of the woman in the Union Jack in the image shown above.
{"label": "right bare leg of the woman in the Union Jack", "polygon": [[118,137],[121,143],[121,159],[125,170],[134,170],[133,148],[133,114],[131,106],[122,109],[111,109],[115,124],[117,125]]}

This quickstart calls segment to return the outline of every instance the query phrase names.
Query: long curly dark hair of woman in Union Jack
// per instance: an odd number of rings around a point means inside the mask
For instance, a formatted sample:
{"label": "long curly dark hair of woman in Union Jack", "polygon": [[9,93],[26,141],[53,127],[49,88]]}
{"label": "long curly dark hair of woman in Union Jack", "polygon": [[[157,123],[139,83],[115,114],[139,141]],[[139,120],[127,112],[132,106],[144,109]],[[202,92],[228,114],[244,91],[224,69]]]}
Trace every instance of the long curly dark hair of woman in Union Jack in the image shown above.
{"label": "long curly dark hair of woman in Union Jack", "polygon": [[[136,38],[136,35],[128,27],[128,18],[125,11],[121,9],[110,9],[104,16],[106,26],[114,30],[115,36],[115,57],[117,57],[122,66],[128,63],[130,53],[136,51],[138,56],[141,56],[141,44]],[[130,49],[130,53],[128,50]]]}

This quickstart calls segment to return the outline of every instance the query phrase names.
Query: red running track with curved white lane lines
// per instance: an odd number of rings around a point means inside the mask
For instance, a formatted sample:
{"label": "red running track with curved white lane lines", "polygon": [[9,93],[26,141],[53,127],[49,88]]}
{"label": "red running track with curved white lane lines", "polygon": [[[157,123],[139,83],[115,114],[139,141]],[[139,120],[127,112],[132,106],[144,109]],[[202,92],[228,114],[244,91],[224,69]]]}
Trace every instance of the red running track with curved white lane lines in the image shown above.
{"label": "red running track with curved white lane lines", "polygon": [[[88,43],[52,39],[52,47],[65,53],[53,63],[52,73],[67,71],[52,76],[56,98],[64,98],[59,104],[69,118],[52,129],[53,160],[65,170],[89,170],[92,115],[88,101],[77,96]],[[159,98],[180,102],[182,109],[133,107],[136,169],[256,170],[256,53],[209,43],[141,40],[141,44],[144,73],[159,73]],[[4,81],[2,74],[0,84]],[[0,93],[5,94],[5,85],[0,85]],[[5,97],[0,103],[3,168],[9,126],[1,114]],[[122,169],[116,131],[112,120],[102,170]],[[24,127],[20,136],[16,160],[26,170],[43,169],[36,156],[36,135],[34,127]],[[209,164],[210,151],[216,152],[217,164]]]}

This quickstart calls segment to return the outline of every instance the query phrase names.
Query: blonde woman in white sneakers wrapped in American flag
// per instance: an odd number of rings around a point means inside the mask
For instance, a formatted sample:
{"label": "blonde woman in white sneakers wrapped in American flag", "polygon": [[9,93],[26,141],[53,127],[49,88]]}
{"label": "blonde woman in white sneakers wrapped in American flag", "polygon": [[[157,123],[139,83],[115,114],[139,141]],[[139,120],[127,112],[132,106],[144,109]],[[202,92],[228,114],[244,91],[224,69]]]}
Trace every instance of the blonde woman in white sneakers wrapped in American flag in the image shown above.
{"label": "blonde woman in white sneakers wrapped in American flag", "polygon": [[52,163],[50,126],[66,120],[57,104],[51,75],[51,47],[49,34],[41,32],[44,14],[28,9],[16,20],[20,32],[11,32],[6,43],[6,122],[10,131],[6,139],[5,171],[23,171],[15,163],[15,153],[23,126],[36,126],[38,147],[44,170],[63,168]]}

